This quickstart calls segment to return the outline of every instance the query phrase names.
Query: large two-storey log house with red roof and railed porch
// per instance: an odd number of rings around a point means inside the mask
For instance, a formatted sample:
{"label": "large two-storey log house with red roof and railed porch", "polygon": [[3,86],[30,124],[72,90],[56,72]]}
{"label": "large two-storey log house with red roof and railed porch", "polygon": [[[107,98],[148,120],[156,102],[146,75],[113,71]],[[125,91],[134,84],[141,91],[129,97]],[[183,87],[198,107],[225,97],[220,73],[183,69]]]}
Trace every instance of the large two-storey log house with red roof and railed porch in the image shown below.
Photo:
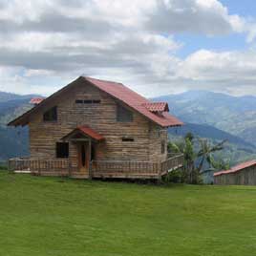
{"label": "large two-storey log house with red roof and railed porch", "polygon": [[12,120],[28,125],[30,158],[12,170],[76,178],[159,178],[181,167],[168,158],[167,128],[182,122],[166,102],[151,102],[117,82],[80,76]]}

